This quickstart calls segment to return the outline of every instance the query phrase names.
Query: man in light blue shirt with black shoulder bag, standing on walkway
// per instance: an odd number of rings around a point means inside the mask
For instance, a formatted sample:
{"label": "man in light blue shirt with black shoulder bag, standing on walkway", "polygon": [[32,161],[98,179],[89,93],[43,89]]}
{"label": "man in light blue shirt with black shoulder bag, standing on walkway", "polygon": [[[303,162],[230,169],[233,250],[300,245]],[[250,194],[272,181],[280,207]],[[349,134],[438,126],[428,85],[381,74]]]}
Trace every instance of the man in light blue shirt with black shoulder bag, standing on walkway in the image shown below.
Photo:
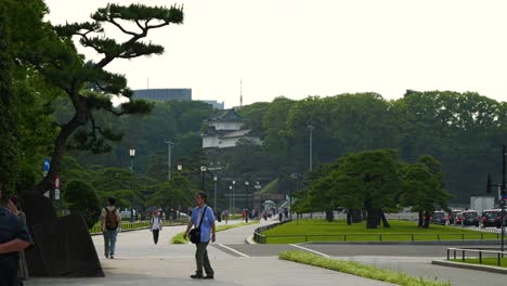
{"label": "man in light blue shirt with black shoulder bag, standing on walkway", "polygon": [[[198,192],[195,196],[195,202],[197,207],[194,208],[192,211],[192,217],[186,226],[186,231],[183,234],[183,237],[186,239],[188,235],[188,231],[191,230],[192,225],[195,225],[196,229],[200,229],[200,242],[196,243],[196,251],[195,251],[195,260],[197,264],[197,270],[195,271],[194,275],[191,275],[192,278],[198,280],[212,280],[214,278],[214,271],[209,263],[208,258],[208,247],[210,235],[211,242],[214,243],[216,239],[216,231],[214,231],[214,216],[213,210],[206,205],[206,193]],[[203,275],[203,266],[206,271],[206,276]]]}

